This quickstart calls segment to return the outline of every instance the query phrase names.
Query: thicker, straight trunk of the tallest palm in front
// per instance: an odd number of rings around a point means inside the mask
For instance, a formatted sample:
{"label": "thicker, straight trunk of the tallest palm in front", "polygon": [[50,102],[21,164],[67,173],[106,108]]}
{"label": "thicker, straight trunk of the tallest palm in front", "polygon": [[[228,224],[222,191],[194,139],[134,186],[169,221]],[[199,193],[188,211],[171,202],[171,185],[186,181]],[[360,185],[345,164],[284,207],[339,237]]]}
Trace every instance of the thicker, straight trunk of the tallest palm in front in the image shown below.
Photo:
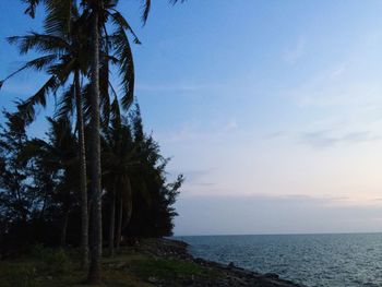
{"label": "thicker, straight trunk of the tallest palm in front", "polygon": [[103,248],[102,190],[100,190],[100,141],[99,141],[99,43],[98,11],[92,16],[92,62],[91,62],[91,178],[92,178],[92,246],[88,282],[100,284],[100,258]]}

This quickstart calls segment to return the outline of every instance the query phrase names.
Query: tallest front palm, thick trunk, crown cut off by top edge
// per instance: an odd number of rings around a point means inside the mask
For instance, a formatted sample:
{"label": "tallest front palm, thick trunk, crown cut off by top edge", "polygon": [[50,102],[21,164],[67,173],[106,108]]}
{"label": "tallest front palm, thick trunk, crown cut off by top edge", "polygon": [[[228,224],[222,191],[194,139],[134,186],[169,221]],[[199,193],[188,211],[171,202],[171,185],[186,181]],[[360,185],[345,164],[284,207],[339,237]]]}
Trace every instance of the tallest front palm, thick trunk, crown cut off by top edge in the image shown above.
{"label": "tallest front palm, thick trunk, crown cut off by top edge", "polygon": [[[59,0],[23,0],[28,3],[28,8],[25,10],[31,16],[35,15],[35,9],[44,2],[48,10],[48,16],[46,17],[46,26],[48,28],[57,27],[57,23],[64,25],[65,15],[70,8]],[[142,21],[145,23],[148,17],[151,9],[151,0],[143,1]],[[171,3],[176,3],[183,0],[169,0]],[[88,273],[88,280],[93,284],[100,283],[100,256],[102,256],[102,184],[100,184],[100,141],[99,141],[99,48],[102,35],[107,36],[106,23],[111,20],[116,26],[116,32],[110,36],[110,43],[107,40],[107,45],[111,45],[116,49],[119,56],[120,74],[122,77],[122,86],[124,95],[122,97],[122,106],[128,108],[132,98],[134,89],[134,68],[132,61],[132,53],[130,49],[129,38],[126,32],[130,32],[134,41],[139,43],[134,33],[132,32],[128,22],[116,10],[118,0],[82,0],[83,13],[87,13],[91,23],[91,179],[92,179],[92,198],[94,203],[93,210],[93,240],[91,250],[91,266]],[[56,21],[57,20],[57,21]]]}

